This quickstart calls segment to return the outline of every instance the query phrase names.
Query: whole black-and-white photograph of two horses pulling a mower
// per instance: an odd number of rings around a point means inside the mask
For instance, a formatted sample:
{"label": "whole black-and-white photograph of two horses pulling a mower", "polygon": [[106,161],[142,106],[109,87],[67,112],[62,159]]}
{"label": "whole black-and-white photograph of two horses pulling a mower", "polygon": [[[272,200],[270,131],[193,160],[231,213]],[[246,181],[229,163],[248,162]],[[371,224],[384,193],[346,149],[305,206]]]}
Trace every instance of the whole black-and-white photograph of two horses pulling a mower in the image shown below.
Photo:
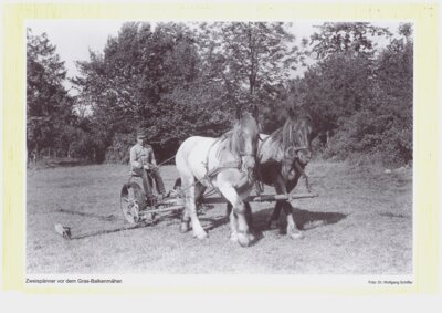
{"label": "whole black-and-white photograph of two horses pulling a mower", "polygon": [[25,28],[27,274],[413,275],[412,21]]}

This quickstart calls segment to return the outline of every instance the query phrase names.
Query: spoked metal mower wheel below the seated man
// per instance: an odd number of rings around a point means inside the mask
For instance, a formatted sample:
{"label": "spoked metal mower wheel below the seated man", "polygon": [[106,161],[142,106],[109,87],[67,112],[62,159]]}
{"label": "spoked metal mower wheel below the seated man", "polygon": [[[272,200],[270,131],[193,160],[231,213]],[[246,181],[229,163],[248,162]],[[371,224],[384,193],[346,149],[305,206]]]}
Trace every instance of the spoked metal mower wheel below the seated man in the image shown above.
{"label": "spoked metal mower wheel below the seated man", "polygon": [[140,211],[145,208],[145,195],[136,182],[123,186],[120,194],[120,208],[123,216],[129,223],[138,223],[141,220]]}

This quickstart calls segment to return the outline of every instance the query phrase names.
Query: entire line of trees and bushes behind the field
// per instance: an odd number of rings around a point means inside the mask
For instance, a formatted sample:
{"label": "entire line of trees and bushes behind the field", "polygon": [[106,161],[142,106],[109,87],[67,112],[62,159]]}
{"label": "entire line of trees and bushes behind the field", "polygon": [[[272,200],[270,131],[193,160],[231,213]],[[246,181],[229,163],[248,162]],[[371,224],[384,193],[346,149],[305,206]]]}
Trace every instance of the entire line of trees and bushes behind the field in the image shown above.
{"label": "entire line of trees and bushes behind the field", "polygon": [[189,136],[220,136],[253,104],[264,133],[288,107],[307,112],[324,157],[411,163],[412,25],[324,23],[301,44],[292,33],[288,23],[129,22],[66,79],[56,48],[28,29],[28,152],[126,163],[144,128],[166,159]]}

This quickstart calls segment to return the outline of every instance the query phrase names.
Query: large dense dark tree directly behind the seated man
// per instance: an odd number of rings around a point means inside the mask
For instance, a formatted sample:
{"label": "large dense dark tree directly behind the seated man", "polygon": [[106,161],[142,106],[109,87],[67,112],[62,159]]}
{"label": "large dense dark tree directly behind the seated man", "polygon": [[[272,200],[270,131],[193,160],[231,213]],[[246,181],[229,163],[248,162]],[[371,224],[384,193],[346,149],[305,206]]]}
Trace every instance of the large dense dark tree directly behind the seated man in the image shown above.
{"label": "large dense dark tree directly behind the seated man", "polygon": [[188,90],[197,64],[190,31],[175,23],[158,24],[155,31],[148,23],[126,23],[117,38],[108,39],[103,54],[91,52],[91,61],[78,62],[82,76],[73,82],[91,102],[104,146],[110,145],[107,161],[127,159],[127,145],[135,139],[126,137],[139,127],[148,131],[150,142],[167,148],[175,129],[170,119],[177,114],[161,98],[176,87]]}

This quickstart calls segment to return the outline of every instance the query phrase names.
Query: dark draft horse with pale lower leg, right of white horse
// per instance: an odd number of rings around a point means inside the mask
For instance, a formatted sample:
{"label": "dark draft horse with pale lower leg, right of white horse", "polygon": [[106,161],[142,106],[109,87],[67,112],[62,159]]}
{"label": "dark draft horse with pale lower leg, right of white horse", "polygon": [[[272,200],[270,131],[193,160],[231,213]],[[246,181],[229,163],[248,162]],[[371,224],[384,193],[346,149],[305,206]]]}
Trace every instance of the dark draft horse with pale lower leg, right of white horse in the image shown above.
{"label": "dark draft horse with pale lower leg, right of white horse", "polygon": [[[307,176],[304,173],[305,166],[312,158],[313,123],[308,114],[295,116],[292,109],[284,126],[271,135],[260,135],[262,142],[257,152],[256,179],[265,185],[273,186],[277,195],[290,194],[297,185],[299,177],[304,177],[306,187],[311,191]],[[292,205],[288,201],[277,201],[272,211],[267,227],[278,219],[281,210],[284,210],[287,218],[287,234],[293,238],[302,238],[297,229]],[[248,207],[251,222],[251,211]],[[228,206],[228,213],[231,216],[231,208]]]}

